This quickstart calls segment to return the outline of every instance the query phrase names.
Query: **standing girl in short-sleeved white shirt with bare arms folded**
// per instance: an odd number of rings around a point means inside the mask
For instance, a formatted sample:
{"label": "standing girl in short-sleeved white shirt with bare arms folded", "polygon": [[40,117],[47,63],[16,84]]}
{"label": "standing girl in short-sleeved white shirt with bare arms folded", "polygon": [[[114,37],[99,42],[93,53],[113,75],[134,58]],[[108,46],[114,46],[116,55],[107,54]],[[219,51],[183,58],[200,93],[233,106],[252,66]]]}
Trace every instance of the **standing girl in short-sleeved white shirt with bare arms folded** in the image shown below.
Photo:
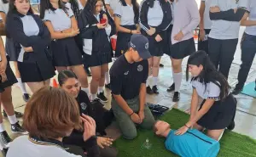
{"label": "standing girl in short-sleeved white shirt with bare arms folded", "polygon": [[79,34],[77,20],[68,3],[61,0],[45,0],[40,3],[40,17],[48,27],[53,41],[50,48],[53,63],[58,71],[70,68],[79,77],[82,90],[89,93],[87,76],[82,63],[82,54],[74,40]]}

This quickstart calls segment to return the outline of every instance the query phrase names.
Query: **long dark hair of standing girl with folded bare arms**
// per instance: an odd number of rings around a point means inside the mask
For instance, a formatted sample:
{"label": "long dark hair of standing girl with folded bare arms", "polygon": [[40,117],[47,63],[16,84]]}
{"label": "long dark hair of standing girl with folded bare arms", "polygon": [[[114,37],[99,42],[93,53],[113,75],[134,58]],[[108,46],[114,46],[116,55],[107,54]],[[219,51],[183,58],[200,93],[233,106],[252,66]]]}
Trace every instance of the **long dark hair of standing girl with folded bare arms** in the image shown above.
{"label": "long dark hair of standing girl with folded bare arms", "polygon": [[[64,12],[67,14],[67,7],[65,7],[65,4],[62,3],[61,0],[59,0],[59,8],[64,10]],[[52,11],[55,11],[55,8],[52,6],[52,4],[49,2],[49,0],[44,0],[40,2],[40,18],[44,19],[45,10],[50,9]]]}

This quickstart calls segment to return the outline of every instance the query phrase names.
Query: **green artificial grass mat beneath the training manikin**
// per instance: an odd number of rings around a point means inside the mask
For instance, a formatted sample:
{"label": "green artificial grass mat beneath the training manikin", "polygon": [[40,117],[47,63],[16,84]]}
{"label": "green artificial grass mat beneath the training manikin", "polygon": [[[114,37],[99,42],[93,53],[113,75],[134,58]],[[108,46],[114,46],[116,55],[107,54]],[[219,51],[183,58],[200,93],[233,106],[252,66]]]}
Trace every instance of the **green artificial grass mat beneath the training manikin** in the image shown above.
{"label": "green artificial grass mat beneath the training manikin", "polygon": [[[172,109],[160,120],[171,124],[172,129],[178,129],[188,120],[189,115],[178,109]],[[152,143],[151,149],[143,149],[142,145],[148,137]],[[120,137],[113,144],[119,150],[119,157],[176,157],[176,154],[165,149],[165,138],[156,137],[152,131],[138,129],[138,136],[134,140]],[[236,132],[225,131],[220,140],[218,157],[256,157],[256,140]]]}

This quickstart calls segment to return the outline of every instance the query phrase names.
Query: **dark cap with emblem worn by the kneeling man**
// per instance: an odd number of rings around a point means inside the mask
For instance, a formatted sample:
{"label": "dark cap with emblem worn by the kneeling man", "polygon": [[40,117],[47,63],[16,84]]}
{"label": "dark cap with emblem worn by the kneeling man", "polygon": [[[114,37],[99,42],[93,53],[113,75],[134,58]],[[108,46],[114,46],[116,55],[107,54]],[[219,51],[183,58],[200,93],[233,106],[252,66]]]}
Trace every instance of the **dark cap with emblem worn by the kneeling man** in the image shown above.
{"label": "dark cap with emblem worn by the kneeling man", "polygon": [[146,36],[140,34],[132,35],[128,48],[135,48],[142,59],[149,59],[151,57],[148,51],[148,38]]}

